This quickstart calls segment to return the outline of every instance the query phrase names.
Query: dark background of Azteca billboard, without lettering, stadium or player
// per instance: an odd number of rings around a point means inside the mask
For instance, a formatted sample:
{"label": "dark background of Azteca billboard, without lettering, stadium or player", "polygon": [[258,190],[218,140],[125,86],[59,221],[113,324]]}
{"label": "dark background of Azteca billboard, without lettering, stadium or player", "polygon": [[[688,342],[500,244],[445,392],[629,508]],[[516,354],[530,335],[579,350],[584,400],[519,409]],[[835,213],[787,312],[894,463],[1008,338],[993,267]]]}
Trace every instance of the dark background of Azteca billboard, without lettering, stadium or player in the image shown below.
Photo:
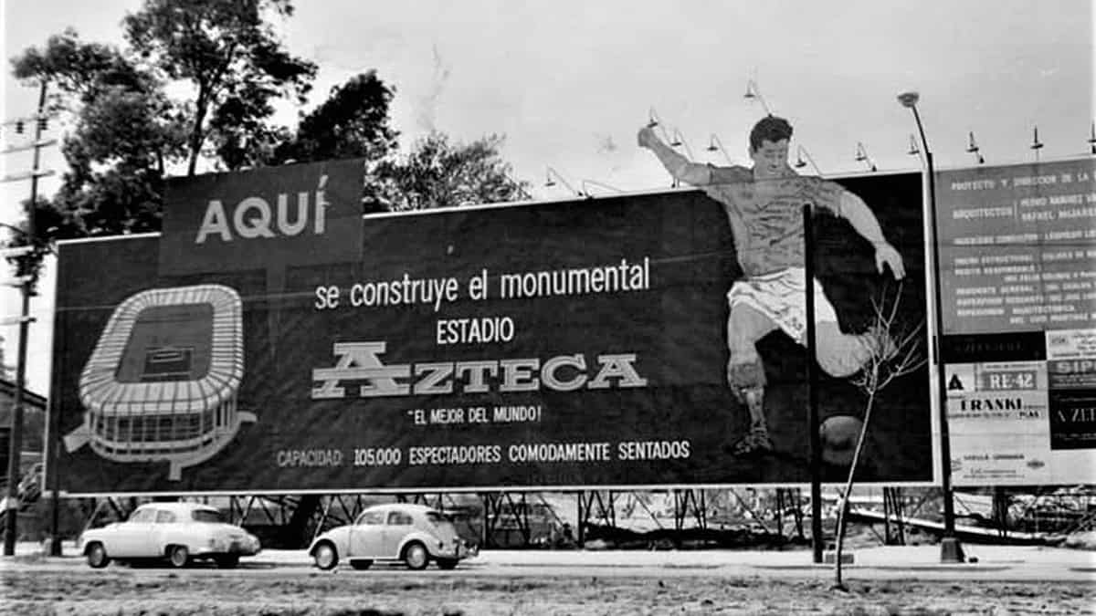
{"label": "dark background of Azteca billboard, without lettering, stadium or player", "polygon": [[[905,261],[901,318],[924,319],[921,175],[842,180],[876,212]],[[817,217],[819,273],[846,331],[870,322],[869,297],[884,278],[870,246],[844,220]],[[766,409],[777,452],[737,458],[733,443],[746,411],[726,386],[726,293],[740,271],[719,204],[700,192],[469,208],[364,220],[361,261],[161,275],[156,237],[64,244],[59,250],[54,408],[59,434],[82,422],[79,376],[112,310],[149,288],[217,283],[243,298],[244,378],[240,410],[258,422],[212,459],[169,481],[167,463],[113,463],[89,447],[59,449],[60,488],[70,493],[384,490],[575,486],[792,483],[809,480],[806,352],[780,332],[760,344],[769,387]],[[537,299],[501,299],[498,275],[651,262],[651,288]],[[292,263],[292,259],[285,262]],[[492,297],[471,300],[465,282],[491,273]],[[277,271],[274,271],[277,270]],[[455,276],[460,299],[443,305],[316,310],[318,285]],[[274,281],[275,283],[272,283]],[[894,288],[891,281],[890,288]],[[276,289],[272,293],[271,289]],[[344,290],[345,293],[345,290]],[[345,297],[345,296],[344,296]],[[507,316],[511,342],[438,345],[438,318]],[[335,342],[385,341],[386,365],[461,360],[636,353],[649,385],[635,389],[560,392],[453,393],[313,400],[312,369],[335,365]],[[922,350],[924,353],[924,350]],[[592,373],[591,373],[592,376]],[[821,415],[861,414],[864,395],[844,379],[822,376]],[[931,481],[932,434],[927,372],[903,377],[878,399],[858,478]],[[535,423],[415,425],[414,408],[540,404]],[[684,459],[601,463],[510,463],[514,443],[688,441]],[[499,464],[409,466],[407,447],[502,445]],[[352,449],[401,447],[402,464],[355,467]],[[341,449],[339,467],[282,467],[287,449]],[[844,478],[826,468],[827,481]]]}

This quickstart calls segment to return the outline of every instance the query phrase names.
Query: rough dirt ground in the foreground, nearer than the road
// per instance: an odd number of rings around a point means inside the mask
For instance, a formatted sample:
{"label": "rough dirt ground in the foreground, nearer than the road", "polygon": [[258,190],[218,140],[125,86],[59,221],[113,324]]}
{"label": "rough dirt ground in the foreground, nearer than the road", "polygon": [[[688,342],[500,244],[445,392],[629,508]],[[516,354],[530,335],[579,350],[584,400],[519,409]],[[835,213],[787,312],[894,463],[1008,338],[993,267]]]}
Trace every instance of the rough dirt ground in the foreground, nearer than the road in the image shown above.
{"label": "rough dirt ground in the foreground, nearer than the road", "polygon": [[741,578],[481,577],[169,569],[0,571],[20,616],[602,614],[1096,614],[1096,584]]}

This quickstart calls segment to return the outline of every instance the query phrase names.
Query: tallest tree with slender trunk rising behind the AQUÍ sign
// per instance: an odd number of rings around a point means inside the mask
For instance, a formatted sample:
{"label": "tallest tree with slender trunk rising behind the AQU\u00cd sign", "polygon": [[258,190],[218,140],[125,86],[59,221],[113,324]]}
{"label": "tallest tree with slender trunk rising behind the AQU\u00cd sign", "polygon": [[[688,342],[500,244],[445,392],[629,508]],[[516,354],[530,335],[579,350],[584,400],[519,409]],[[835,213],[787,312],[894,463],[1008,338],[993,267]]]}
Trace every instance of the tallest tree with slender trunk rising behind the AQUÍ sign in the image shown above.
{"label": "tallest tree with slender trunk rising behind the AQU\u00cd sign", "polygon": [[[126,38],[171,80],[195,89],[186,139],[187,175],[206,140],[229,169],[251,162],[271,130],[271,101],[311,89],[316,65],[289,55],[265,20],[293,15],[289,0],[146,0],[123,22]],[[208,122],[207,122],[208,121]]]}

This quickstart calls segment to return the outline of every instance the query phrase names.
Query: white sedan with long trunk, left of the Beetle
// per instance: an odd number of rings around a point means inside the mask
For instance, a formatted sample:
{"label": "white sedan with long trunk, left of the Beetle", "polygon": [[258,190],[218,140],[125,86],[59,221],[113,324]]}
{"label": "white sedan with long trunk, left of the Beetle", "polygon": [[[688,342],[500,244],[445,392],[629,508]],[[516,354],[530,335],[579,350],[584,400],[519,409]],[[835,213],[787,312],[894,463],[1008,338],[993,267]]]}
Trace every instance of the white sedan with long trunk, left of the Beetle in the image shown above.
{"label": "white sedan with long trunk, left of the Beetle", "polygon": [[125,522],[85,531],[80,549],[95,569],[106,567],[111,559],[167,559],[173,567],[209,559],[230,569],[241,556],[256,555],[261,548],[254,535],[226,523],[216,507],[157,502],[140,505]]}

